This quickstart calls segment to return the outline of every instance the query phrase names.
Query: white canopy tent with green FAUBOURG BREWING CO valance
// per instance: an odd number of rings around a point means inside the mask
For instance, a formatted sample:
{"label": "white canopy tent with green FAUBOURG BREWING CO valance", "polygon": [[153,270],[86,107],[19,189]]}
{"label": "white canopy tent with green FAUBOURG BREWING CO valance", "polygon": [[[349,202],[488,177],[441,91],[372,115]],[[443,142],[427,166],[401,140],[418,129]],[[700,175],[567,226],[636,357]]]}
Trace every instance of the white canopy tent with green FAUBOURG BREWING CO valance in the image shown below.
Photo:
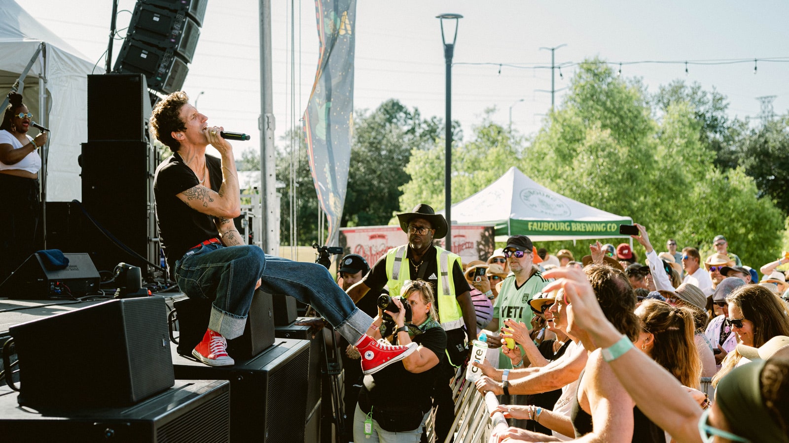
{"label": "white canopy tent with green FAUBOURG BREWING CO valance", "polygon": [[619,234],[619,225],[633,224],[630,217],[553,192],[514,166],[487,188],[452,205],[451,215],[455,225],[495,226],[496,241],[516,234],[533,241],[630,239]]}

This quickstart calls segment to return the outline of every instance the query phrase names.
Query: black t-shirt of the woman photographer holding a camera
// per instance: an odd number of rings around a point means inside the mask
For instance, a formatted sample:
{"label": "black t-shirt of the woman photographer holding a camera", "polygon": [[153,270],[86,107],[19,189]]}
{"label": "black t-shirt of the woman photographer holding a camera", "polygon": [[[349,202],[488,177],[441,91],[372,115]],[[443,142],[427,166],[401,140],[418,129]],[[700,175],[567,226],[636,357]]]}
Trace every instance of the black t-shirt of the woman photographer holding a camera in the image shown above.
{"label": "black t-shirt of the woman photographer holding a camera", "polygon": [[365,375],[359,392],[359,408],[365,413],[372,406],[376,409],[387,405],[408,403],[427,412],[432,404],[431,396],[436,378],[441,374],[441,363],[446,359],[447,333],[441,328],[432,328],[413,337],[413,342],[430,349],[439,358],[436,366],[414,374],[406,370],[402,362],[392,363],[375,374]]}

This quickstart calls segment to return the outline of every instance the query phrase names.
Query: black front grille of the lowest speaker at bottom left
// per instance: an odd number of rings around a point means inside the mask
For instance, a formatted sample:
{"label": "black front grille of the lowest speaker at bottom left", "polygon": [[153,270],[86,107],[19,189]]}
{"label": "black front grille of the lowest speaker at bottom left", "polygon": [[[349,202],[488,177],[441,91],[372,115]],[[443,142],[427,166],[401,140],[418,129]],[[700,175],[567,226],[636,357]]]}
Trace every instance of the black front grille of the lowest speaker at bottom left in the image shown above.
{"label": "black front grille of the lowest speaker at bottom left", "polygon": [[201,404],[156,430],[157,443],[230,441],[230,391]]}

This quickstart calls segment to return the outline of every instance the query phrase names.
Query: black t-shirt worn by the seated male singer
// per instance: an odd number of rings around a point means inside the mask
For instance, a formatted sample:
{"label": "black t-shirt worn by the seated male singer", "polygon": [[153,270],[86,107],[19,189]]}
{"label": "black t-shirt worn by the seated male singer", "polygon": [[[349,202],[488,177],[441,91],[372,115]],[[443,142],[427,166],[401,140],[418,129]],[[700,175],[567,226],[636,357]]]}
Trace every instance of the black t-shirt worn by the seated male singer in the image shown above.
{"label": "black t-shirt worn by the seated male singer", "polygon": [[[206,155],[205,160],[210,176],[207,181],[210,181],[211,189],[218,192],[222,185],[222,162],[211,155]],[[176,260],[186,251],[204,240],[219,236],[213,216],[193,210],[178,198],[178,194],[198,184],[200,181],[195,173],[178,153],[156,168],[153,179],[156,219],[159,241],[171,278],[174,278]],[[208,186],[208,183],[204,185]]]}

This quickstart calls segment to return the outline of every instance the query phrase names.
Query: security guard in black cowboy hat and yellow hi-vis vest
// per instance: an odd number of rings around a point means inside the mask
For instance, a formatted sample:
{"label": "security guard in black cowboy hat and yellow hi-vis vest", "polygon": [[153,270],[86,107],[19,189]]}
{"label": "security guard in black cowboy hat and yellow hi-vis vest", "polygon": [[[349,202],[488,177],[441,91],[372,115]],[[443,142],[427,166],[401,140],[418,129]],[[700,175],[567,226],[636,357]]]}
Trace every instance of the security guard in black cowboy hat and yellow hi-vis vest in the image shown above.
{"label": "security guard in black cowboy hat and yellow hi-vis vest", "polygon": [[[400,227],[408,234],[408,244],[392,248],[381,256],[370,272],[348,289],[348,295],[354,302],[365,295],[377,299],[386,285],[395,296],[408,280],[428,281],[436,294],[439,322],[447,331],[447,360],[458,367],[466,359],[466,344],[473,339],[469,334],[477,332],[477,314],[469,294],[469,283],[463,276],[460,256],[433,245],[433,239],[447,235],[447,220],[426,204],[418,204],[412,212],[397,217]],[[447,244],[451,244],[451,239]],[[448,380],[454,370],[446,366],[445,379]],[[446,436],[454,418],[454,406],[449,385],[436,388],[434,406],[438,406],[436,436],[439,437],[436,441],[443,441],[442,435]]]}

